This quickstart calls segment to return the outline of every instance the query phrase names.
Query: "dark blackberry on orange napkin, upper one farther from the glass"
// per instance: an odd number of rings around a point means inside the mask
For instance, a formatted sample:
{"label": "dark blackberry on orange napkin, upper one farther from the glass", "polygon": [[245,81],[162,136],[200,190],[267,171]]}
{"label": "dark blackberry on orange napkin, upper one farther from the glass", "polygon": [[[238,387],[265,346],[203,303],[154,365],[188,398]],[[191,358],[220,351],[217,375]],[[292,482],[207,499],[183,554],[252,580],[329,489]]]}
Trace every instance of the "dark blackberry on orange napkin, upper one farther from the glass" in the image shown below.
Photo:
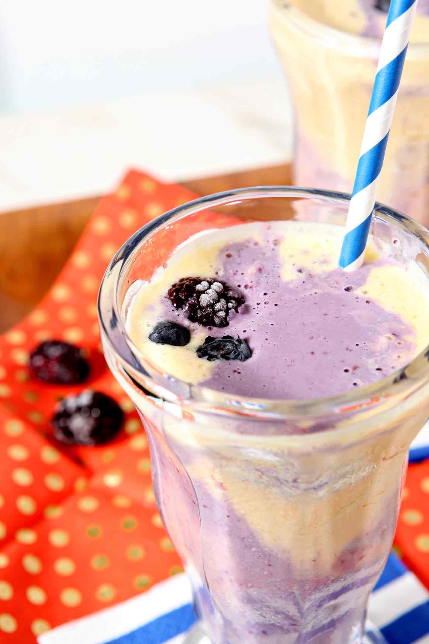
{"label": "dark blackberry on orange napkin, upper one farther from the glass", "polygon": [[30,369],[39,380],[53,384],[82,383],[89,374],[80,348],[60,340],[37,346],[30,355]]}

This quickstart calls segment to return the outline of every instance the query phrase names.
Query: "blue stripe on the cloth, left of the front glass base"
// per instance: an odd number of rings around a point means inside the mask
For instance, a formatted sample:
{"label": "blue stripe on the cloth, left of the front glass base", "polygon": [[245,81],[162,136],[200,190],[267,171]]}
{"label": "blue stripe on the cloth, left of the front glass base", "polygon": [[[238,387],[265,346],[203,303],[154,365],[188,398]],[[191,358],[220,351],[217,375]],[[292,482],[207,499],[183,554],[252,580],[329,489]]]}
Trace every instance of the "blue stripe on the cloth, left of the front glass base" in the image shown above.
{"label": "blue stripe on the cloth, left of the front glass base", "polygon": [[163,644],[190,629],[195,621],[192,604],[185,604],[175,611],[150,621],[140,629],[132,630],[131,633],[122,635],[120,638],[111,639],[106,644],[143,644],[143,642],[144,644]]}

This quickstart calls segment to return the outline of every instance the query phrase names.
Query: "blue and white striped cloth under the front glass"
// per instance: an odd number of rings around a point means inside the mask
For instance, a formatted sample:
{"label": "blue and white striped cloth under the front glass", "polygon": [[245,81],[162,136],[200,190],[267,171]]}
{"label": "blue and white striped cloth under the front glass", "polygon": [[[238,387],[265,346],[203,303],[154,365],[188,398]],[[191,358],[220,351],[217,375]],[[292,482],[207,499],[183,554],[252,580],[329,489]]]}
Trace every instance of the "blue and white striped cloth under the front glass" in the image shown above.
{"label": "blue and white striped cloth under the front glass", "polygon": [[[38,641],[183,644],[195,621],[191,601],[188,580],[178,574],[131,600],[50,630]],[[365,644],[429,644],[429,592],[394,554],[371,595],[368,616]]]}

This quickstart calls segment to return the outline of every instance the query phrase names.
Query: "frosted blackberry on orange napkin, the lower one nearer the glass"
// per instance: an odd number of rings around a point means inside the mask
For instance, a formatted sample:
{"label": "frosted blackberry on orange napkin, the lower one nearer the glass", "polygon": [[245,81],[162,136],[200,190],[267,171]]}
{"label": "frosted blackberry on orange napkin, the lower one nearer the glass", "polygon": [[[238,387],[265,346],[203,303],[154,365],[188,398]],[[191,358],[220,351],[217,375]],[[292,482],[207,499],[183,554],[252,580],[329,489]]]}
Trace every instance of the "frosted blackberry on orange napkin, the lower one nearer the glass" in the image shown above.
{"label": "frosted blackberry on orange napkin, the lower one nearer the glass", "polygon": [[102,445],[120,430],[123,413],[105,393],[84,390],[57,404],[52,419],[55,438],[71,444]]}

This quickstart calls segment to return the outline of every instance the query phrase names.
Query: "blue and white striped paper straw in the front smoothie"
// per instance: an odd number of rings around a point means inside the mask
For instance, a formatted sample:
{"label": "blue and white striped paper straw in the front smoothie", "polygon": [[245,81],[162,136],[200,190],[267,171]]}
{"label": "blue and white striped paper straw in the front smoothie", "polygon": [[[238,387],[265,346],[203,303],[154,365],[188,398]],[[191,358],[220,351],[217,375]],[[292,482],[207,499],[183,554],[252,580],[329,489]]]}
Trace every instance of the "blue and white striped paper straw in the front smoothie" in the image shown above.
{"label": "blue and white striped paper straw in the front smoothie", "polygon": [[417,0],[391,0],[381,44],[358,169],[345,225],[340,267],[358,269],[363,262],[379,175],[396,106],[399,82]]}

